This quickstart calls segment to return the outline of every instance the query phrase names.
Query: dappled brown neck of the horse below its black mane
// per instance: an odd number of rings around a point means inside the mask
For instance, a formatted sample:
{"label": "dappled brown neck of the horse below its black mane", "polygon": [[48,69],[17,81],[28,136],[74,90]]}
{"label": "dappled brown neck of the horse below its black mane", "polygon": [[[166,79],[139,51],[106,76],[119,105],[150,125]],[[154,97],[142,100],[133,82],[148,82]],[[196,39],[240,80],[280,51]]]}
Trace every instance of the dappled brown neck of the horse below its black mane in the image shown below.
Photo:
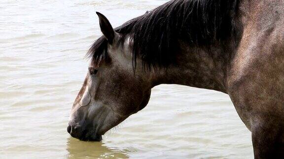
{"label": "dappled brown neck of the horse below its black mane", "polygon": [[157,83],[182,84],[192,87],[213,89],[226,93],[226,72],[230,54],[223,48],[190,48],[181,44],[181,53],[177,64],[162,71]]}

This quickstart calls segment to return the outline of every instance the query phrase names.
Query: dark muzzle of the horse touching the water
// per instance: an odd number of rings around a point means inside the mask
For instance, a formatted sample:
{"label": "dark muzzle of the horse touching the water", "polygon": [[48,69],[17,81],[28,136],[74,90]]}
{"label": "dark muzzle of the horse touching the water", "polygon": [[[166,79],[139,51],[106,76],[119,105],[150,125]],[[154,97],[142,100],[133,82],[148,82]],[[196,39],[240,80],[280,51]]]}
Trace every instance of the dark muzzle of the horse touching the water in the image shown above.
{"label": "dark muzzle of the horse touching the water", "polygon": [[67,132],[74,138],[82,141],[102,141],[102,135],[90,133],[88,130],[79,126],[68,125]]}

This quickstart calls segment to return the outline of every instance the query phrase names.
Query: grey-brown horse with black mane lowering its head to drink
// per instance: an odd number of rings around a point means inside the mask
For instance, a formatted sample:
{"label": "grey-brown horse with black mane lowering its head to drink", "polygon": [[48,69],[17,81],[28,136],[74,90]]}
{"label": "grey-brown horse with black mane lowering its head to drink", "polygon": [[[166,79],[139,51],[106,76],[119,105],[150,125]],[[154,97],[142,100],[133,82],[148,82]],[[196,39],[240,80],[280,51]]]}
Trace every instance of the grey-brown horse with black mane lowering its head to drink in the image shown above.
{"label": "grey-brown horse with black mane lowering its head to drink", "polygon": [[171,0],[116,28],[97,15],[103,35],[86,55],[72,137],[101,141],[151,88],[181,84],[228,94],[254,158],[284,158],[284,0]]}

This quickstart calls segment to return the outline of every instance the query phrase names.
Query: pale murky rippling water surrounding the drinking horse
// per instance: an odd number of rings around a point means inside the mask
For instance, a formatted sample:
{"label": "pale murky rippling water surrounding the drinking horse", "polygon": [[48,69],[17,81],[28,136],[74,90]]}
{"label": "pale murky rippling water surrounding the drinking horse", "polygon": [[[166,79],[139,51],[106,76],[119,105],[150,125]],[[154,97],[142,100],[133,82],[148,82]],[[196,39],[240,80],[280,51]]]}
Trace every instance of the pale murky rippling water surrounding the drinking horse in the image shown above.
{"label": "pale murky rippling water surrounding the drinking horse", "polygon": [[153,88],[142,111],[102,142],[66,131],[101,33],[167,0],[1,0],[0,158],[253,158],[250,132],[227,95],[179,85]]}

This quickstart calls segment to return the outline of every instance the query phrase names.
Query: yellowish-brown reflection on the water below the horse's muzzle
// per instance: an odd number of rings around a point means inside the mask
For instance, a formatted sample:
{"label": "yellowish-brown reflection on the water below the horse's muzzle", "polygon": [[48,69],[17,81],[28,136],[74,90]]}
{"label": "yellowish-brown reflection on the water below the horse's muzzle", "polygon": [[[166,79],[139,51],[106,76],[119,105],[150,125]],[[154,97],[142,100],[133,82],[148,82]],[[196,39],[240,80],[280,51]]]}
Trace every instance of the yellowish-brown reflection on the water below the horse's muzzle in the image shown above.
{"label": "yellowish-brown reflection on the water below the horse's muzzle", "polygon": [[78,158],[115,158],[128,159],[127,150],[116,150],[104,146],[102,142],[84,142],[73,137],[67,139],[69,159]]}

